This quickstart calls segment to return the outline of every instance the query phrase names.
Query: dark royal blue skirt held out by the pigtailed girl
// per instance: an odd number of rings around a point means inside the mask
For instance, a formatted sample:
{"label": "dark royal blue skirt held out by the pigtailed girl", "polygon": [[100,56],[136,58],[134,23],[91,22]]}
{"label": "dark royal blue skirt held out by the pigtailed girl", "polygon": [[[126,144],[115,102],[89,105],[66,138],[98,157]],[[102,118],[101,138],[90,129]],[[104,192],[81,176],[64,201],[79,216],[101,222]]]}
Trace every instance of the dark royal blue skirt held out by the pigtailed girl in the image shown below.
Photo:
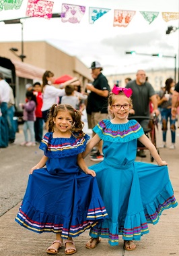
{"label": "dark royal blue skirt held out by the pigtailed girl", "polygon": [[46,168],[29,176],[15,221],[34,232],[79,236],[108,216],[96,178],[83,172],[49,174]]}

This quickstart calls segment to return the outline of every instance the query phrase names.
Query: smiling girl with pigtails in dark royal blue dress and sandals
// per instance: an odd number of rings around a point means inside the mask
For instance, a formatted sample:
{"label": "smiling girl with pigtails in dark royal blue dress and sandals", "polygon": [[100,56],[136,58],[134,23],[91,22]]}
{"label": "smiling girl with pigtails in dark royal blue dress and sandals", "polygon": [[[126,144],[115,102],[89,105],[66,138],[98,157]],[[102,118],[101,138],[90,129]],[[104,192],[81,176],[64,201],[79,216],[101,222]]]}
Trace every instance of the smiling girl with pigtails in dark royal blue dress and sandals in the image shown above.
{"label": "smiling girl with pigtails in dark royal blue dress and sandals", "polygon": [[63,239],[65,253],[76,253],[72,238],[108,215],[96,174],[81,157],[89,140],[82,128],[79,111],[71,105],[52,105],[49,130],[40,143],[44,156],[30,170],[26,194],[15,217],[24,228],[57,234],[46,251],[49,254],[59,252]]}

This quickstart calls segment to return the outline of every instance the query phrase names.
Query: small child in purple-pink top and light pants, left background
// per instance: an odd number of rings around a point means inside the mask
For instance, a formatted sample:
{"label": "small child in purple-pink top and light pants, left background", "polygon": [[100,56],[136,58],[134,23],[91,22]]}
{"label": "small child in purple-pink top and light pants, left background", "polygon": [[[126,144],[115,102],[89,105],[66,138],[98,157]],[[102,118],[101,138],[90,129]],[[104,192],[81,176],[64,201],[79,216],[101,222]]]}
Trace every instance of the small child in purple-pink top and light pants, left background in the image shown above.
{"label": "small child in purple-pink top and light pants, left background", "polygon": [[[25,141],[21,143],[21,146],[35,146],[35,132],[34,132],[34,122],[36,120],[36,96],[32,91],[26,92],[26,103],[20,103],[20,107],[23,109],[23,131]],[[30,141],[28,140],[28,130],[30,132]]]}

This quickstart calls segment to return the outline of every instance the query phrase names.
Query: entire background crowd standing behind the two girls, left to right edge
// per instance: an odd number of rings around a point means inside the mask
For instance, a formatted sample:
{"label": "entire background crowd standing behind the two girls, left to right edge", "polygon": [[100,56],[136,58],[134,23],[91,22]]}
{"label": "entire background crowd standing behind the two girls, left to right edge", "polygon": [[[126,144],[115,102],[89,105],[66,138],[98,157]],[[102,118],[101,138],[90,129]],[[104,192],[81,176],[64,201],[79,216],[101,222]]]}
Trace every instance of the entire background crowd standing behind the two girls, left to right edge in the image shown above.
{"label": "entire background crowd standing behind the two girls, left to right edge", "polygon": [[[42,84],[26,84],[26,102],[20,103],[23,109],[24,118],[24,142],[23,146],[35,146],[40,143],[43,136],[44,124],[48,130],[48,113],[54,103],[70,104],[75,109],[84,109],[87,112],[88,128],[94,128],[102,119],[110,118],[108,114],[108,95],[110,86],[108,80],[102,74],[102,66],[98,61],[92,62],[92,83],[86,84],[85,92],[81,93],[81,82],[71,76],[55,78],[54,74],[46,70],[42,76]],[[60,84],[57,84],[61,82]],[[176,148],[176,120],[178,118],[178,85],[173,78],[168,78],[165,86],[159,92],[155,92],[153,86],[149,83],[144,70],[138,70],[135,80],[130,77],[125,78],[125,87],[133,90],[133,109],[129,113],[129,118],[134,116],[143,130],[149,130],[149,119],[153,113],[160,117],[162,128],[162,145],[159,148]],[[57,86],[58,85],[58,86]],[[175,88],[176,85],[176,88]],[[30,97],[29,91],[33,92]],[[0,147],[7,147],[15,144],[15,133],[17,127],[13,121],[15,113],[15,101],[11,86],[4,80],[3,74],[0,74]],[[34,103],[35,104],[34,104]],[[173,102],[173,103],[172,103]],[[32,107],[32,105],[34,107]],[[143,119],[142,117],[145,117]],[[167,130],[170,122],[171,143],[168,146]],[[28,132],[30,134],[28,134]],[[3,136],[1,135],[3,134]],[[93,131],[92,136],[95,135]],[[145,151],[141,149],[143,145],[137,141],[137,156],[146,157]],[[104,159],[102,151],[102,141],[92,149],[90,153],[92,161],[102,161]]]}

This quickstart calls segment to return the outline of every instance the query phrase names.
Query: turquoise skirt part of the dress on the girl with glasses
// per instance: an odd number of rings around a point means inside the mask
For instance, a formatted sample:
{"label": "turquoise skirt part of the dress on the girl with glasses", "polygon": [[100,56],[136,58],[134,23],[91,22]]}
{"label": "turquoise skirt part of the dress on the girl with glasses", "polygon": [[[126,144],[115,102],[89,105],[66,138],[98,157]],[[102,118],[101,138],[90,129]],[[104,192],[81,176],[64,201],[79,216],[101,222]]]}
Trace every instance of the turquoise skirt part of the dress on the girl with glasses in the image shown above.
{"label": "turquoise skirt part of the dress on the girl with glasses", "polygon": [[108,238],[110,245],[118,245],[119,235],[124,240],[140,240],[149,232],[149,223],[157,224],[164,209],[178,205],[167,166],[140,162],[117,166],[105,159],[89,169],[97,174],[108,211],[108,219],[89,235]]}

